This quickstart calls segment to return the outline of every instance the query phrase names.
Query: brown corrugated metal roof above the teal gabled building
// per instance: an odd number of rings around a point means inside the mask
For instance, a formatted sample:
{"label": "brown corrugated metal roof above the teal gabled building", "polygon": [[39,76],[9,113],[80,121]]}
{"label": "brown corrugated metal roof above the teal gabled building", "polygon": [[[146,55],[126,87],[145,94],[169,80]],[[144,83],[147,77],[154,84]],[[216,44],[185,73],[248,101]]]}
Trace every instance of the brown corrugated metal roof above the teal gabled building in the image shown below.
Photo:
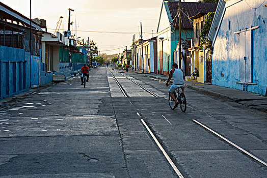
{"label": "brown corrugated metal roof above the teal gabled building", "polygon": [[[218,3],[181,3],[180,9],[182,12],[182,28],[193,28],[193,22],[190,21],[190,17],[197,15],[198,13],[208,13],[208,12],[215,12],[217,8]],[[178,6],[179,2],[177,1],[171,1],[168,2],[168,7],[171,12],[171,16],[173,19],[173,24],[176,28],[179,27],[179,20],[176,18],[177,12],[178,12]],[[176,16],[176,17],[175,17]],[[188,16],[188,17],[186,17]]]}

